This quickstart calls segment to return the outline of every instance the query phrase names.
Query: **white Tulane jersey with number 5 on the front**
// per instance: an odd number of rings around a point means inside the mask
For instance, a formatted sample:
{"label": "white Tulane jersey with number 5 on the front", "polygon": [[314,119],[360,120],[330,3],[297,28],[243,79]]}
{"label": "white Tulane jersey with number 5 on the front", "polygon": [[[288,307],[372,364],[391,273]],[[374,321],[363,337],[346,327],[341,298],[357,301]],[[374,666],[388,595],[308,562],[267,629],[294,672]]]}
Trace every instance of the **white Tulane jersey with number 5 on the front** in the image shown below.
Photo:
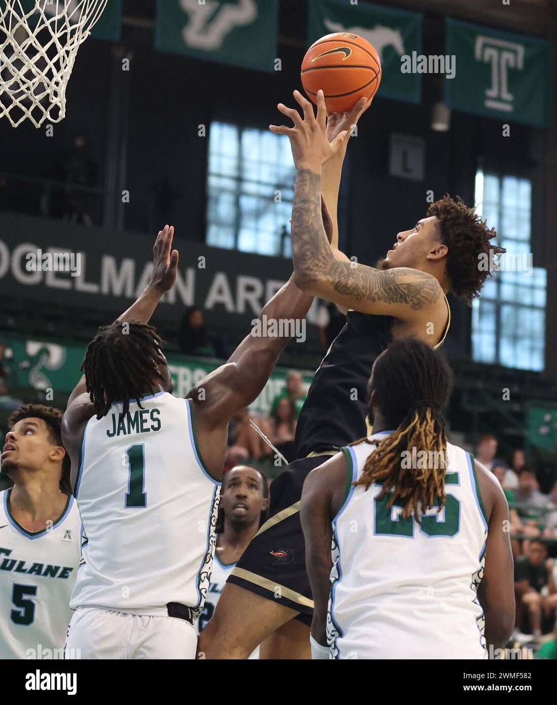
{"label": "white Tulane jersey with number 5 on the front", "polygon": [[51,527],[27,532],[0,492],[0,658],[63,658],[78,572],[81,520],[73,497]]}

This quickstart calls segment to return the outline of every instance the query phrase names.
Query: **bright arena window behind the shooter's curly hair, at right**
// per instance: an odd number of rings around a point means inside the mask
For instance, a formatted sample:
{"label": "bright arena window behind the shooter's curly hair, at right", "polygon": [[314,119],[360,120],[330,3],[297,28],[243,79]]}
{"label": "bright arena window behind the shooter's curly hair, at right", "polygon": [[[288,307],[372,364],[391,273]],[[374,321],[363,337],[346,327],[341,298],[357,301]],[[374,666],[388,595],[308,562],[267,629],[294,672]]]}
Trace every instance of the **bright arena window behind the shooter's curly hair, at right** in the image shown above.
{"label": "bright arena window behind the shooter's curly hair, at right", "polygon": [[[476,173],[479,214],[496,228],[508,255],[472,307],[472,357],[477,362],[544,369],[546,270],[532,266],[532,182],[482,170]],[[527,271],[525,271],[527,270]]]}

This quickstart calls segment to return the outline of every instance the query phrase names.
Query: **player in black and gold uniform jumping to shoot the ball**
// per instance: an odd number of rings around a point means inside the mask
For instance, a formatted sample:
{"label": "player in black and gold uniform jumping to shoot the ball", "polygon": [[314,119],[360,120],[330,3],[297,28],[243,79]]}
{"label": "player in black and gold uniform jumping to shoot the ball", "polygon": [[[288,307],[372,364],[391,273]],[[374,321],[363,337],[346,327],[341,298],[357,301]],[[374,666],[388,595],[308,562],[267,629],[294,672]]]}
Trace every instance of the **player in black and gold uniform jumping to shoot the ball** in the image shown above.
{"label": "player in black and gold uniform jumping to shoot the ball", "polygon": [[[279,104],[293,127],[270,129],[288,135],[297,171],[295,283],[348,309],[348,314],[300,413],[298,460],[271,484],[270,518],[228,578],[200,638],[207,658],[247,658],[262,639],[262,658],[310,658],[314,603],[300,525],[305,477],[339,448],[369,433],[367,380],[377,357],[393,340],[407,336],[439,348],[451,322],[446,294],[470,304],[491,274],[480,269],[479,257],[504,252],[491,245],[496,233],[474,209],[446,195],[413,228],[396,235],[393,248],[376,267],[351,262],[338,250],[336,204],[348,140],[369,102],[362,98],[352,111],[328,117],[322,91],[317,94],[317,116],[300,92],[294,97],[302,115]],[[333,223],[330,244],[322,200]],[[274,558],[279,548],[286,552],[284,560]]]}

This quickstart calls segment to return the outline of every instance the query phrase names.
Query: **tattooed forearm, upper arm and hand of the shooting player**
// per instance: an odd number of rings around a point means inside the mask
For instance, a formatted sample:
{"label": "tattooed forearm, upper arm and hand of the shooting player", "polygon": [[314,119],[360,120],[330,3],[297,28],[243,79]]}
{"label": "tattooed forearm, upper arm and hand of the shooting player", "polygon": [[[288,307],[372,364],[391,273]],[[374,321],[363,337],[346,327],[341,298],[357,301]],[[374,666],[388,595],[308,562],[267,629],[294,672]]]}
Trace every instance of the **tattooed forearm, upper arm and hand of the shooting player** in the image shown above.
{"label": "tattooed forearm, upper arm and hand of the shooting player", "polygon": [[[444,319],[446,310],[441,298],[441,286],[433,276],[417,269],[380,271],[336,259],[324,235],[321,217],[322,168],[342,156],[350,130],[338,133],[329,142],[323,92],[317,94],[317,116],[300,92],[295,91],[294,97],[302,108],[303,119],[298,111],[279,104],[279,110],[293,121],[294,127],[271,125],[271,130],[290,138],[298,171],[292,213],[296,284],[302,290],[338,306],[362,313],[393,316],[412,324],[417,319],[420,324],[422,320],[429,320],[431,307],[442,305],[443,312],[437,317]],[[417,311],[421,311],[418,317]]]}

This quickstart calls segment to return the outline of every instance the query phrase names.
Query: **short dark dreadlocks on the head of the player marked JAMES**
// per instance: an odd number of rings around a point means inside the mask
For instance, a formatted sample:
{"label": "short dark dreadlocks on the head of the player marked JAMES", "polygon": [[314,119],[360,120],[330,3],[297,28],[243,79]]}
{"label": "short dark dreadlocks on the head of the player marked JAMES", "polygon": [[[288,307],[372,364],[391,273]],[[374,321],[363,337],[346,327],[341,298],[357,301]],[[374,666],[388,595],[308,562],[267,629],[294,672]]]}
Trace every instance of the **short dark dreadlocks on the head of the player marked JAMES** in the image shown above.
{"label": "short dark dreadlocks on the head of the player marked JAMES", "polygon": [[81,364],[97,419],[102,419],[114,402],[123,402],[124,415],[130,410],[130,400],[137,400],[142,408],[140,398],[147,391],[154,393],[157,379],[164,381],[157,367],[166,364],[163,345],[153,326],[137,321],[99,328]]}

